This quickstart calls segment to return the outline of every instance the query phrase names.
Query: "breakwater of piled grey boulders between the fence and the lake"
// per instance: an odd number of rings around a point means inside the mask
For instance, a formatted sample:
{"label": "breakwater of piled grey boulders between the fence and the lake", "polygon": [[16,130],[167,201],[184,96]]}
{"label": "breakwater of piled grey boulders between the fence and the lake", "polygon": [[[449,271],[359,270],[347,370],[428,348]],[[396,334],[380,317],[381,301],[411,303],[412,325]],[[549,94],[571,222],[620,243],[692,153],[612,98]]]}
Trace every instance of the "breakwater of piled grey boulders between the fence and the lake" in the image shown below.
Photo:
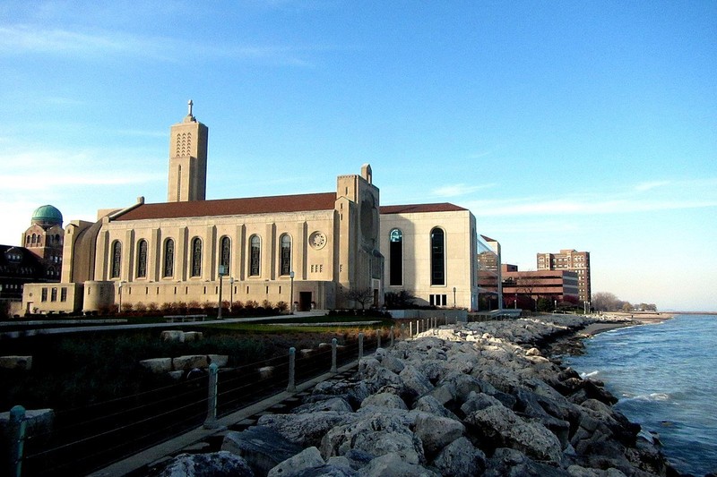
{"label": "breakwater of piled grey boulders between the fence and the lake", "polygon": [[351,379],[317,385],[292,413],[229,432],[213,459],[178,456],[165,474],[214,462],[232,475],[282,477],[678,475],[600,382],[540,352],[592,322],[428,330],[364,358]]}

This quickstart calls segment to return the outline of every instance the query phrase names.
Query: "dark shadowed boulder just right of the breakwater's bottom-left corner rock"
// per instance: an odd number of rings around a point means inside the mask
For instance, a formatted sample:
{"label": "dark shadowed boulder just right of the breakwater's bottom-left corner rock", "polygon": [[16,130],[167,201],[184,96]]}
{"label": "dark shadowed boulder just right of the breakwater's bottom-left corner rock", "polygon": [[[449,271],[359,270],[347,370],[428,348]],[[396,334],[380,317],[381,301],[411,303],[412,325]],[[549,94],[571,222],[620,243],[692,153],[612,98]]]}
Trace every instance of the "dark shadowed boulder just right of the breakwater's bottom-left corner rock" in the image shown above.
{"label": "dark shadowed boulder just right of the breakwater's bottom-left corner rock", "polygon": [[276,430],[254,426],[241,432],[228,432],[221,443],[221,450],[243,457],[256,475],[266,475],[273,467],[303,449]]}

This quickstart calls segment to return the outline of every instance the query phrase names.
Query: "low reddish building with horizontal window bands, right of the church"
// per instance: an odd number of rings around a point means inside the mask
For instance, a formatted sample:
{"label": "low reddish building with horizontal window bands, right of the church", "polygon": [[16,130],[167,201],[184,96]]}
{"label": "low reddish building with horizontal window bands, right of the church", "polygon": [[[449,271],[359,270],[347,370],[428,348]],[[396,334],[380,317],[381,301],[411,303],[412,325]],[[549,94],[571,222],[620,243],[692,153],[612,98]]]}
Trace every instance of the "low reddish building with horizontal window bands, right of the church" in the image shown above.
{"label": "low reddish building with horizontal window bands, right of the church", "polygon": [[[578,276],[568,270],[517,271],[514,265],[502,269],[503,296],[508,308],[534,309],[540,298],[559,302],[578,303]],[[517,304],[516,304],[517,302]]]}

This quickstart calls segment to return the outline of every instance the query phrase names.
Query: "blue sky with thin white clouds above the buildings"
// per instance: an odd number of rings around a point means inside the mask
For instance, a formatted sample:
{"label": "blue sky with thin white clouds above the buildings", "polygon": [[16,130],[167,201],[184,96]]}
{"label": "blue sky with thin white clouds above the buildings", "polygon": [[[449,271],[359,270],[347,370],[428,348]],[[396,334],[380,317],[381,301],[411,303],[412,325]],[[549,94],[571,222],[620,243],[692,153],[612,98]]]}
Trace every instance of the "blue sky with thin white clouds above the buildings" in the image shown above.
{"label": "blue sky with thin white clouds above the buildings", "polygon": [[717,311],[717,2],[0,0],[0,243],[34,209],[332,192],[470,209],[504,263],[590,251],[593,293]]}

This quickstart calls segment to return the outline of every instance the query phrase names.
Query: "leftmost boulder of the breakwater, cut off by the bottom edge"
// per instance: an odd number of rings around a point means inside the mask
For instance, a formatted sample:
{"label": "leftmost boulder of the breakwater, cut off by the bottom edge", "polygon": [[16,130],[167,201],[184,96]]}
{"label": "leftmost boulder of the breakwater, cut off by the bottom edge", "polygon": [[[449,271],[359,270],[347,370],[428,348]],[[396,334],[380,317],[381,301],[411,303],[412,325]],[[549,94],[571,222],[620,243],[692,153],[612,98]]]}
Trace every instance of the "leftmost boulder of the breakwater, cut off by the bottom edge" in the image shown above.
{"label": "leftmost boulder of the breakwater, cut off by the bottom edge", "polygon": [[211,454],[180,454],[157,477],[254,477],[246,461],[227,451]]}

